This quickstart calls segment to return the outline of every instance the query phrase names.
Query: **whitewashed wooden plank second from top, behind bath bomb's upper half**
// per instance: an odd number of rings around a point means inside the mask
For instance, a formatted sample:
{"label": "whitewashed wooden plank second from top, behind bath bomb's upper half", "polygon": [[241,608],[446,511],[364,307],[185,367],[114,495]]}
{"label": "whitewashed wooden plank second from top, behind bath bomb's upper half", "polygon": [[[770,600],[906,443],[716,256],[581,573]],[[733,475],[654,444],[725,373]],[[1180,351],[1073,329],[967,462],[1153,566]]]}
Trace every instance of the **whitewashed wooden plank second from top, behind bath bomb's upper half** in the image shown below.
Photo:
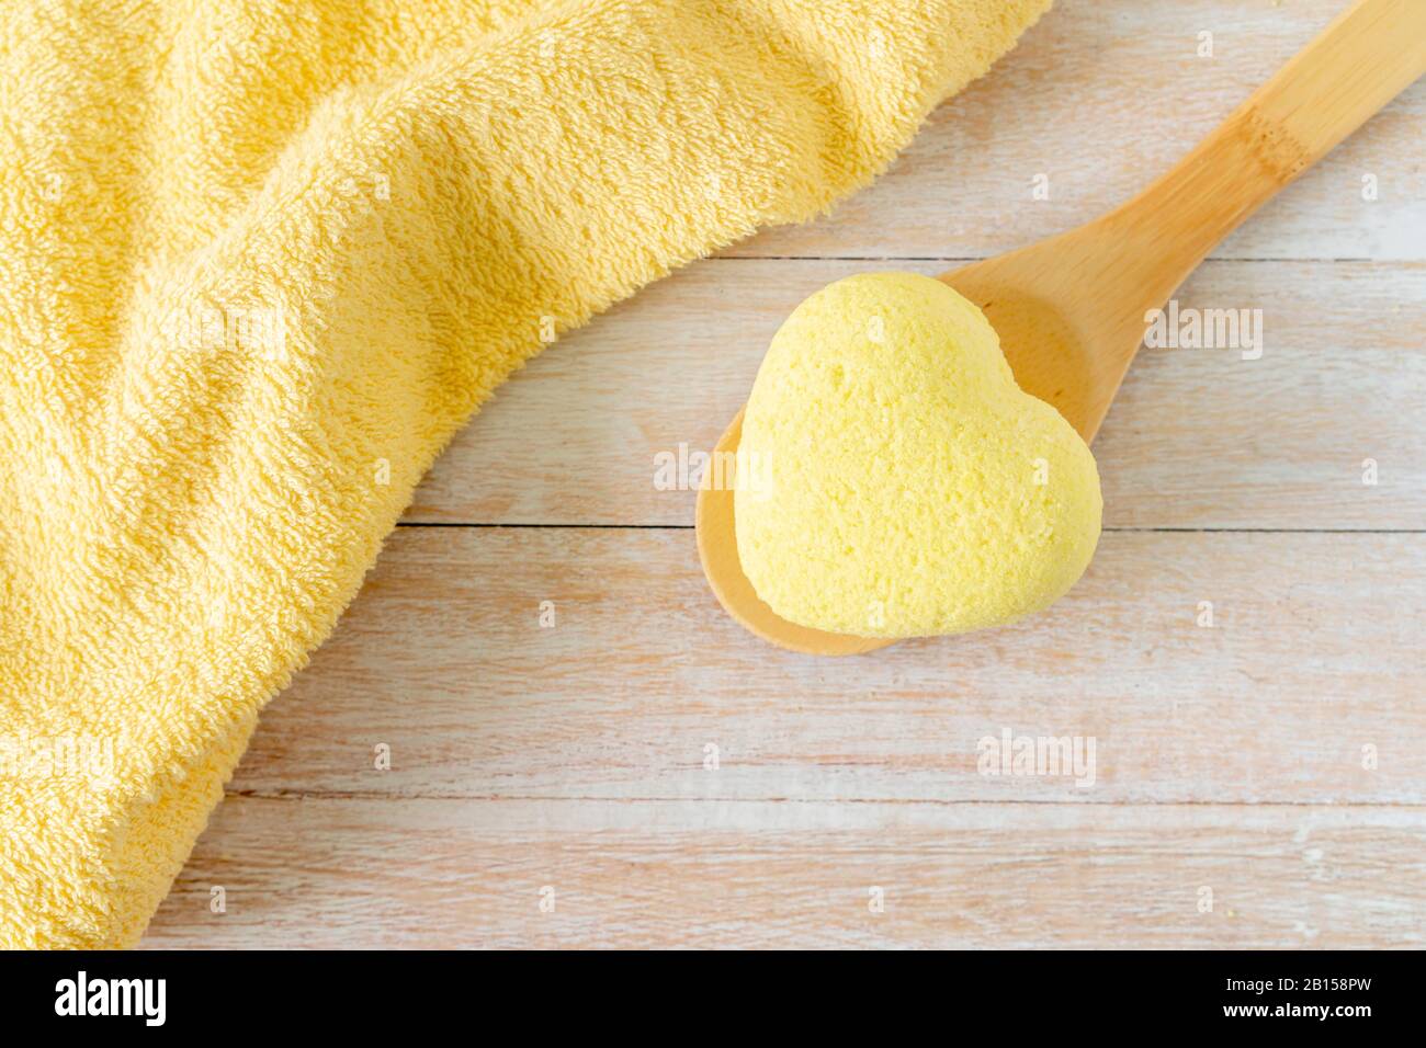
{"label": "whitewashed wooden plank second from top, behind bath bomb's upper half", "polygon": [[[886,268],[944,267],[710,260],[647,288],[506,384],[406,519],[692,523],[656,456],[713,445],[799,301]],[[1426,265],[1209,262],[1178,301],[1262,309],[1262,358],[1141,354],[1095,443],[1108,526],[1426,528]]]}

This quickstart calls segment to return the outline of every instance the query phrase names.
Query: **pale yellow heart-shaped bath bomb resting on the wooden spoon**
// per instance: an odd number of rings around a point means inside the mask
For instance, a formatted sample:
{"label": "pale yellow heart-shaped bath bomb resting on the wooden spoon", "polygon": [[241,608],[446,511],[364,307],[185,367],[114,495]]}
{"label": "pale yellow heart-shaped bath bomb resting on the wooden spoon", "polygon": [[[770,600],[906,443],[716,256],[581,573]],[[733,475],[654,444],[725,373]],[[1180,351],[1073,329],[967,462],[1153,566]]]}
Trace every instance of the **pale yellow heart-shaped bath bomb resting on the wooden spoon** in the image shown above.
{"label": "pale yellow heart-shaped bath bomb resting on the wooden spoon", "polygon": [[784,619],[908,637],[1048,607],[1099,539],[1099,473],[1015,385],[985,315],[906,272],[848,277],[773,338],[743,418],[737,552]]}

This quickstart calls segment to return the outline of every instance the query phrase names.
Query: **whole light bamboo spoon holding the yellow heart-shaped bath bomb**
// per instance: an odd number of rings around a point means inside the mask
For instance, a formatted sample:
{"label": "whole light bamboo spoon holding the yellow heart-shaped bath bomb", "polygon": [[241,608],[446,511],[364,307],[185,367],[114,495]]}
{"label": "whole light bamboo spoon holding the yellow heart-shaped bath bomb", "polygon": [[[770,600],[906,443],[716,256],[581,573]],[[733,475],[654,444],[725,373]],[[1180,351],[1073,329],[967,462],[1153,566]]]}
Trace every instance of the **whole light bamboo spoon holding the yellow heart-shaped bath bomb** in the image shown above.
{"label": "whole light bamboo spoon holding the yellow heart-shaped bath bomb", "polygon": [[[1161,308],[1212,248],[1426,73],[1426,0],[1359,0],[1168,174],[1128,204],[941,279],[985,311],[1021,389],[1092,441]],[[732,462],[743,412],[714,458]],[[722,456],[719,459],[717,456]],[[853,654],[893,643],[797,626],[743,575],[733,490],[699,490],[699,558],[713,593],[780,647]]]}

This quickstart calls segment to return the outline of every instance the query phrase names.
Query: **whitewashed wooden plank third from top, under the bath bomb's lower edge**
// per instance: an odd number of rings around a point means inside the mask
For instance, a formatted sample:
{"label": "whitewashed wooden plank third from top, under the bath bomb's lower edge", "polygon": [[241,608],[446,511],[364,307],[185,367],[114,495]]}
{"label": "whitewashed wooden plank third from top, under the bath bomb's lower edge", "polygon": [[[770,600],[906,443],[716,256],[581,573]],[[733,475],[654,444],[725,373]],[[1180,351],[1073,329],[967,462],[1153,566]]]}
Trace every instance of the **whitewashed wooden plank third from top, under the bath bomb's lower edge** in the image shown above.
{"label": "whitewashed wooden plank third from top, under the bath bomb's lower edge", "polygon": [[[232,788],[1426,804],[1423,617],[1426,535],[1121,532],[1040,617],[819,660],[734,626],[687,530],[404,528]],[[1092,784],[983,774],[1007,730],[1094,740]]]}

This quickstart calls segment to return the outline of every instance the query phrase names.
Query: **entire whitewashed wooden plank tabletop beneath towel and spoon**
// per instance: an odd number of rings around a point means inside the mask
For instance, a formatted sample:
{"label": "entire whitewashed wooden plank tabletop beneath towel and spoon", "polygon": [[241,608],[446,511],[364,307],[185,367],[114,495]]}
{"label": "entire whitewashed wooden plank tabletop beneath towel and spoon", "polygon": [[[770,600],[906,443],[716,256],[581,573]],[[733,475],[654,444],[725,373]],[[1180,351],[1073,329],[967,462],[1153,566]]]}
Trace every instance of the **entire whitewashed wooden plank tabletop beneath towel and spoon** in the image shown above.
{"label": "entire whitewashed wooden plank tabletop beneath towel and spoon", "polygon": [[[1261,308],[1263,356],[1141,354],[1098,558],[1050,613],[777,652],[653,483],[806,294],[1091,218],[1342,3],[1064,0],[833,217],[536,359],[270,707],[145,944],[1423,945],[1426,84],[1181,289]],[[1004,730],[1094,739],[1094,786],[980,774]]]}

